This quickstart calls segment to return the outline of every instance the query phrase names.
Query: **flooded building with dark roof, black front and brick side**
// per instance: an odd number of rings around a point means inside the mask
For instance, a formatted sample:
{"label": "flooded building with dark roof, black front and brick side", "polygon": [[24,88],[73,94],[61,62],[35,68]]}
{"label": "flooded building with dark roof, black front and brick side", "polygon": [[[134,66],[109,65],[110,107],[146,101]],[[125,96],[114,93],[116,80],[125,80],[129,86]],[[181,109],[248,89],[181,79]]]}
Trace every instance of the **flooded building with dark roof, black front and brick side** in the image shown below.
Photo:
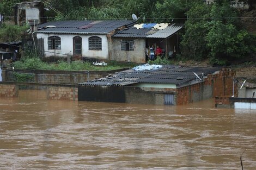
{"label": "flooded building with dark roof, black front and brick side", "polygon": [[78,100],[180,105],[233,92],[235,72],[227,68],[164,65],[147,70],[147,66],[80,83]]}

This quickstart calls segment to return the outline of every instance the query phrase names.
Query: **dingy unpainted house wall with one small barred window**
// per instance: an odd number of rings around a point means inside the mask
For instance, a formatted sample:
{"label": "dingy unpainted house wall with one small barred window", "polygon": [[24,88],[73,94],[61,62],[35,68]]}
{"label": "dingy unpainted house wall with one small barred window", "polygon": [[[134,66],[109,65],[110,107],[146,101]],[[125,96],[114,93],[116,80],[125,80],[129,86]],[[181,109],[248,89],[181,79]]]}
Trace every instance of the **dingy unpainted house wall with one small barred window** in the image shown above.
{"label": "dingy unpainted house wall with one small barred window", "polygon": [[113,52],[111,60],[145,62],[146,61],[146,44],[145,39],[123,39],[134,40],[134,51],[121,51],[122,39],[113,38]]}

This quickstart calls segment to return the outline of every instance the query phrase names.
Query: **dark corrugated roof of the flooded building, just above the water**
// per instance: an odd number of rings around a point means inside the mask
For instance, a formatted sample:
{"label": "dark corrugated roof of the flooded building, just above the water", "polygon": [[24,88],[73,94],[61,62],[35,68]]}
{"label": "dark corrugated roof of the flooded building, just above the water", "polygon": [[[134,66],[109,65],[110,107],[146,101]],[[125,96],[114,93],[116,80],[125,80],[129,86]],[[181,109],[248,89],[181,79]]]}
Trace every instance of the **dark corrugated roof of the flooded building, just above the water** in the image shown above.
{"label": "dark corrugated roof of the flooded building, just above the water", "polygon": [[79,85],[125,86],[136,83],[150,83],[181,86],[188,81],[196,80],[197,78],[194,73],[201,77],[202,75],[212,74],[219,70],[221,70],[220,67],[163,65],[157,70],[126,70],[113,75],[113,77],[80,83]]}

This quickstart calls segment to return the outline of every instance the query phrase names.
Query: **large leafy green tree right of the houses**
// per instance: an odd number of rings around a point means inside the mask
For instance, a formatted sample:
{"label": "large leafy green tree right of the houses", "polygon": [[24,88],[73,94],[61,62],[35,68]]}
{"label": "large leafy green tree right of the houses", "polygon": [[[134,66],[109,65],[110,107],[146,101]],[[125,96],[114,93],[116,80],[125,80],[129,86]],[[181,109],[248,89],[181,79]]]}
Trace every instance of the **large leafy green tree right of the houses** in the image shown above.
{"label": "large leafy green tree right of the houses", "polygon": [[225,65],[255,52],[255,36],[240,28],[238,16],[224,0],[192,7],[181,41],[182,55],[194,60],[209,57],[211,64]]}

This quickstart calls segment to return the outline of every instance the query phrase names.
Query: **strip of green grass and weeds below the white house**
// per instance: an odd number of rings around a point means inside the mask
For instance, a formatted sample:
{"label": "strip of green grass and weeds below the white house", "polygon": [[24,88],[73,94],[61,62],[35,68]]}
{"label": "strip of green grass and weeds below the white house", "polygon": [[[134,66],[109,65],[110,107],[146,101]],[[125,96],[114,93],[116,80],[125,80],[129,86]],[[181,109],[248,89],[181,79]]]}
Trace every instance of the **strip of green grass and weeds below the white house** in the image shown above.
{"label": "strip of green grass and weeds below the white house", "polygon": [[133,62],[117,62],[109,61],[107,66],[94,66],[90,62],[78,62],[72,61],[68,64],[66,61],[58,61],[54,64],[48,64],[47,62],[41,61],[37,57],[25,57],[20,61],[15,61],[13,66],[15,69],[26,69],[26,70],[66,70],[66,71],[109,71],[117,70],[121,68],[131,68],[135,67],[137,64]]}

